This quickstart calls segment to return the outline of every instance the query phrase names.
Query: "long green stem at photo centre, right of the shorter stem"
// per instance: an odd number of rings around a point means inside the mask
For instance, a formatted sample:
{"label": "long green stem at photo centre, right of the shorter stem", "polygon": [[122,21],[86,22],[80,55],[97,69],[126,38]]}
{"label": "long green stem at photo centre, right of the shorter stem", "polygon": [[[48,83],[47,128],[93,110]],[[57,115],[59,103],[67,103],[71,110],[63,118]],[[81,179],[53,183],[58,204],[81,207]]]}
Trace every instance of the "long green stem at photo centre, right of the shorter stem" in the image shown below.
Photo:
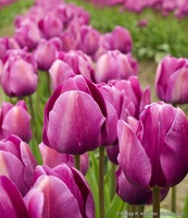
{"label": "long green stem at photo centre, right of the shorter stem", "polygon": [[104,218],[104,146],[99,147],[99,214]]}

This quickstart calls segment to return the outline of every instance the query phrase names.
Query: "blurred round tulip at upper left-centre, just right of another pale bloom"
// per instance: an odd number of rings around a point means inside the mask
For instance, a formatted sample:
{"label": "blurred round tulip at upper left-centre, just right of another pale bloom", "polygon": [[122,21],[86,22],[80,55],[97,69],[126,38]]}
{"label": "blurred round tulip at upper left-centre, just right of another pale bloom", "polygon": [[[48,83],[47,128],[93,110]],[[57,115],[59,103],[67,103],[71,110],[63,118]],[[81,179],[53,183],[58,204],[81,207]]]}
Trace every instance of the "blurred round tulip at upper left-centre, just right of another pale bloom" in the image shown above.
{"label": "blurred round tulip at upper left-centre, just right of another pale bloom", "polygon": [[60,37],[63,31],[62,21],[55,16],[54,12],[47,13],[39,22],[39,28],[45,38]]}

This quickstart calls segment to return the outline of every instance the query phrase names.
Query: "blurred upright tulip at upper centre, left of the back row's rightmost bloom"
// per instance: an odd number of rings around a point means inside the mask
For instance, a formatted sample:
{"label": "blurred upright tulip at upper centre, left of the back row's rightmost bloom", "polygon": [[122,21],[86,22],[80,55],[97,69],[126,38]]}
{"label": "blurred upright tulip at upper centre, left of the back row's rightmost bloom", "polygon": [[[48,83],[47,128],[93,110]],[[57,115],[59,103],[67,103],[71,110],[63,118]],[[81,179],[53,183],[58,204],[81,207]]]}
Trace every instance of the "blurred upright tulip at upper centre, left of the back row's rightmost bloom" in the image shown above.
{"label": "blurred upright tulip at upper centre, left of the back row's rightmost bloom", "polygon": [[88,56],[92,56],[99,47],[99,32],[91,26],[82,25],[79,34],[80,39],[78,44],[78,49],[83,50]]}

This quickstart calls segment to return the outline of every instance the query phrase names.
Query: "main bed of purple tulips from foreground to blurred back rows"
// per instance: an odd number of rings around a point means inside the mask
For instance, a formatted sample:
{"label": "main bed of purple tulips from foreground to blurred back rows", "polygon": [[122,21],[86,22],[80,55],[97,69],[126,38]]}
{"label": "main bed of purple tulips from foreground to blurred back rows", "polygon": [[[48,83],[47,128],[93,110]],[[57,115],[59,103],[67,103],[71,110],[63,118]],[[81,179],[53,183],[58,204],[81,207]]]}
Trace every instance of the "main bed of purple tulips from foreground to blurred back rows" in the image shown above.
{"label": "main bed of purple tulips from foreground to blurred back rows", "polygon": [[[15,19],[15,35],[0,38],[1,87],[20,99],[0,108],[0,217],[98,216],[85,178],[90,152],[99,152],[100,218],[104,157],[115,165],[117,195],[153,204],[160,217],[160,202],[188,172],[188,120],[175,107],[188,102],[188,60],[161,61],[155,89],[163,101],[151,102],[131,47],[126,28],[100,34],[84,9],[59,0],[36,1]],[[50,76],[52,92],[36,145],[41,165],[28,145],[35,114],[21,99],[46,83],[39,73]]]}

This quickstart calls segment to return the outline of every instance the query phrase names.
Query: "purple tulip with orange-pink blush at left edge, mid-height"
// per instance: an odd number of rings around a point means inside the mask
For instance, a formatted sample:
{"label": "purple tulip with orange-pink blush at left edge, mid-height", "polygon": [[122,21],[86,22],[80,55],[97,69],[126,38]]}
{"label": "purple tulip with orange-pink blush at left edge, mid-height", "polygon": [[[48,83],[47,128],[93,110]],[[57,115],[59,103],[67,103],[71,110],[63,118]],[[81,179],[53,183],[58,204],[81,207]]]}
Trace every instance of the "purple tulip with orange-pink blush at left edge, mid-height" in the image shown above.
{"label": "purple tulip with orange-pink blush at left edge, mid-height", "polygon": [[0,140],[12,134],[27,143],[32,138],[30,116],[24,100],[20,100],[15,106],[3,102],[0,108]]}

